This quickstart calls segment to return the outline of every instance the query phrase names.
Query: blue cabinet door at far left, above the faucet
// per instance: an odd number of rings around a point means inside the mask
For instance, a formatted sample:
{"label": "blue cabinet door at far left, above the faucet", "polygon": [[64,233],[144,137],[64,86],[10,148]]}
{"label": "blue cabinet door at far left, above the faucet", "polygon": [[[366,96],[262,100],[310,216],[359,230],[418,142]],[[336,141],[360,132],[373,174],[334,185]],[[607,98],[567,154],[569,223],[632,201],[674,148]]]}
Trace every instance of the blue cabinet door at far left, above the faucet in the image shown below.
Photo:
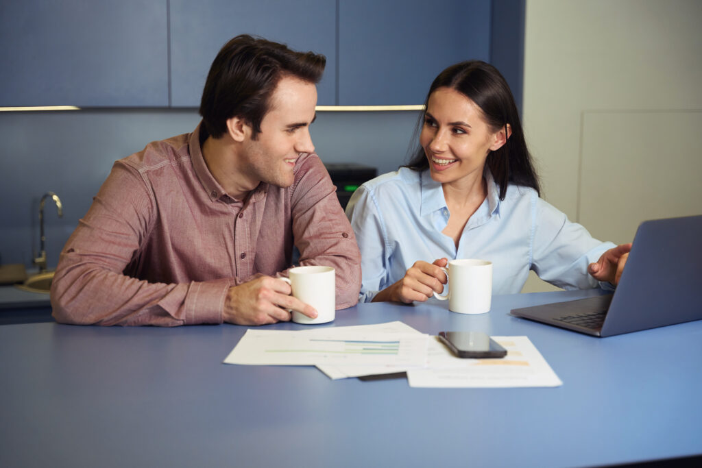
{"label": "blue cabinet door at far left, above the faucet", "polygon": [[0,4],[0,106],[168,105],[166,0]]}

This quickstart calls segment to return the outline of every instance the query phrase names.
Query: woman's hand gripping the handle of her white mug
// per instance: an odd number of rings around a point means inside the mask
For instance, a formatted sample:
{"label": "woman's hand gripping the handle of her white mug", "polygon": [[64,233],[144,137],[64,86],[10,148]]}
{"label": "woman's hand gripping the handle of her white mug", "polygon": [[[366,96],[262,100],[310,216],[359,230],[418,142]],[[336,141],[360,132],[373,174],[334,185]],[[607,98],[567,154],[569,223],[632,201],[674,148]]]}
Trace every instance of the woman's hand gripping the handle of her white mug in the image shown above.
{"label": "woman's hand gripping the handle of her white mug", "polygon": [[446,284],[446,274],[442,267],[446,267],[449,260],[439,258],[433,263],[423,261],[415,262],[397,283],[388,286],[373,297],[373,302],[424,302],[434,294],[442,293]]}

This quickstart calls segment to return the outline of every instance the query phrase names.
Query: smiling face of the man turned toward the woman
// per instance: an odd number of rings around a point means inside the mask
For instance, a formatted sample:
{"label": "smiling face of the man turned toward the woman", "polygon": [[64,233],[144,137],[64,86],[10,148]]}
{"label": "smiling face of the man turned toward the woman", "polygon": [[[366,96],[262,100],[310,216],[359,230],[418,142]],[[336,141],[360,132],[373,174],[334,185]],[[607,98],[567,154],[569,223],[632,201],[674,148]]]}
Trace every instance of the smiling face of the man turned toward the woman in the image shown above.
{"label": "smiling face of the man turned toward the woman", "polygon": [[310,123],[314,121],[317,87],[291,76],[278,82],[270,110],[261,121],[257,140],[248,138],[244,158],[251,182],[290,187],[293,168],[300,153],[314,152]]}

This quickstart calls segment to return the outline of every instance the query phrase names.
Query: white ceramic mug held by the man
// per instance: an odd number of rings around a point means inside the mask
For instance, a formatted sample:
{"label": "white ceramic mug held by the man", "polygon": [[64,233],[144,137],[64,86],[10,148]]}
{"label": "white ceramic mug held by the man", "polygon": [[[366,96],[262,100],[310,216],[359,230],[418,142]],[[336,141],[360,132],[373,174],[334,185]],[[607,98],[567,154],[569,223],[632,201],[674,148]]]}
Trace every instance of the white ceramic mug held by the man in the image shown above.
{"label": "white ceramic mug held by the man", "polygon": [[336,273],[332,267],[313,265],[310,267],[295,267],[288,270],[286,281],[293,290],[293,296],[317,310],[317,318],[292,311],[293,322],[296,323],[327,323],[336,316]]}

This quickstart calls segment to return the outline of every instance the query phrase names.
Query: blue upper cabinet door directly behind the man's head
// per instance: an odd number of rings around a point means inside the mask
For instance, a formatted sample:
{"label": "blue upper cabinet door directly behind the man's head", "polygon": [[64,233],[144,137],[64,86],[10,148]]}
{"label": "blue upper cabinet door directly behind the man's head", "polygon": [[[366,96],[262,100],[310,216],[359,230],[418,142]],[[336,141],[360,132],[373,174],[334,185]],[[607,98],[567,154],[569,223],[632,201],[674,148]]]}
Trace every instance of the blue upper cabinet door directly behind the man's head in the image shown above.
{"label": "blue upper cabinet door directly behind the man's head", "polygon": [[171,0],[171,103],[199,107],[210,65],[239,34],[262,36],[298,51],[326,55],[319,105],[336,93],[336,2],[333,0]]}

